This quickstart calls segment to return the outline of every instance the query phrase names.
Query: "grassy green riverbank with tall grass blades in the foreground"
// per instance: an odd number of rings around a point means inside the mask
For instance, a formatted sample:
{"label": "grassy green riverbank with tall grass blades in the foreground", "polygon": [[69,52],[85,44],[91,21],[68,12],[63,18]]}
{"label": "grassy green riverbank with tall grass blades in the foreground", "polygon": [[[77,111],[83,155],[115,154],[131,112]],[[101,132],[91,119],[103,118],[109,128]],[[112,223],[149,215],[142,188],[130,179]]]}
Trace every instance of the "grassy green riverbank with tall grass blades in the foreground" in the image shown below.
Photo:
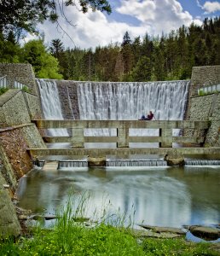
{"label": "grassy green riverbank with tall grass blades in the foreground", "polygon": [[47,229],[41,223],[48,217],[33,216],[32,212],[15,207],[21,236],[3,239],[1,255],[220,255],[220,243],[186,241],[185,233],[179,229],[144,225],[134,230],[132,220],[124,227],[123,216],[115,214],[113,220],[105,211],[96,222],[80,217],[84,203],[86,200],[82,199],[73,212],[72,202],[68,201]]}

